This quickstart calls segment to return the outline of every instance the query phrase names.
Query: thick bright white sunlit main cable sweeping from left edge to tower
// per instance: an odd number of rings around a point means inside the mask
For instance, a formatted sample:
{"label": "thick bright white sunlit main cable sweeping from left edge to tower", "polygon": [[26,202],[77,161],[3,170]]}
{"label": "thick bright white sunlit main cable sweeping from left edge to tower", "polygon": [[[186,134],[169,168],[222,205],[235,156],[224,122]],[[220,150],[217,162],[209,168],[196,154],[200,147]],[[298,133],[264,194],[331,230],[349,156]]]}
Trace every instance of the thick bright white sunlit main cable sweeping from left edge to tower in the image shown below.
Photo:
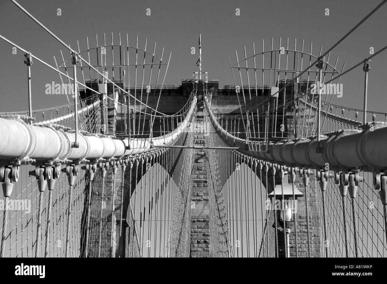
{"label": "thick bright white sunlit main cable sweeping from left edge to tower", "polygon": [[63,131],[61,126],[43,124],[30,125],[23,121],[22,116],[0,116],[0,160],[12,162],[14,160],[32,159],[39,162],[55,160],[71,160],[82,162],[85,160],[122,158],[154,151],[153,146],[168,145],[187,127],[196,108],[197,98],[191,102],[187,116],[182,123],[165,136],[153,138],[116,139],[113,136],[101,134],[79,133],[79,147],[71,148],[75,141],[75,131]]}

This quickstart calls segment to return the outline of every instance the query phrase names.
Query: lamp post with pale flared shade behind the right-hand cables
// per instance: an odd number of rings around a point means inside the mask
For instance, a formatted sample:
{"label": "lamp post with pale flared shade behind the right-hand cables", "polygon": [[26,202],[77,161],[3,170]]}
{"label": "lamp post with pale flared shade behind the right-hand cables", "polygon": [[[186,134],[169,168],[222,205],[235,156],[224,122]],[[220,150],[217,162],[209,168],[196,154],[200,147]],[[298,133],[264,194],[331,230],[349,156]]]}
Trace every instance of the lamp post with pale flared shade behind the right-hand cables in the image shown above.
{"label": "lamp post with pale flared shade behind the right-hand cables", "polygon": [[[286,173],[283,184],[276,185],[274,190],[268,194],[267,197],[272,199],[274,196],[275,201],[272,202],[272,204],[273,206],[276,206],[277,209],[277,230],[280,232],[285,230],[284,247],[286,249],[286,257],[290,257],[289,235],[290,232],[295,230],[298,221],[297,198],[303,197],[304,194],[300,192],[295,185],[292,186],[288,184],[288,175]],[[276,224],[274,223],[272,227],[275,228]],[[281,234],[278,235],[280,236]]]}

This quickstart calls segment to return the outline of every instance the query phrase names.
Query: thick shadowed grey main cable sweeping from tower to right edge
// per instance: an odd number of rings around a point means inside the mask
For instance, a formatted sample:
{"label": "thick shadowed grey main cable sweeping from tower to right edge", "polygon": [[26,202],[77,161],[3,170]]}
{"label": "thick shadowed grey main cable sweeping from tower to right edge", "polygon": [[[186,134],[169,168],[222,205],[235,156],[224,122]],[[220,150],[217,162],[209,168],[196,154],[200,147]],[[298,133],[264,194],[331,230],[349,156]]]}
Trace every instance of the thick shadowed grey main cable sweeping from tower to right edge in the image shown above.
{"label": "thick shadowed grey main cable sweeping from tower to right edge", "polygon": [[230,147],[240,147],[238,151],[253,158],[297,167],[325,168],[328,164],[332,169],[341,170],[364,167],[374,171],[387,168],[386,122],[372,122],[364,130],[340,130],[330,133],[329,136],[322,135],[321,153],[316,153],[316,137],[269,142],[268,151],[265,152],[253,150],[259,148],[259,144],[262,149],[266,149],[265,143],[249,141],[246,145],[246,140],[224,130],[212,113],[207,98],[204,102],[212,124],[223,141]]}

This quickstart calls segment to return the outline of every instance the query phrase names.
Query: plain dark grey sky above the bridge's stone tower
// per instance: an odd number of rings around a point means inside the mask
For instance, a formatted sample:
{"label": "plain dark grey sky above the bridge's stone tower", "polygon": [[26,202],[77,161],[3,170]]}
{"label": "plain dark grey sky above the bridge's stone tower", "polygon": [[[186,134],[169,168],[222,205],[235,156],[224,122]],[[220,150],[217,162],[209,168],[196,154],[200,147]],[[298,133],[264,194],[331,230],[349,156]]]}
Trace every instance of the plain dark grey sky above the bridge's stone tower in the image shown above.
{"label": "plain dark grey sky above the bridge's stone tower", "polygon": [[[139,46],[145,38],[149,46],[156,42],[165,53],[172,53],[167,73],[167,84],[178,84],[182,79],[191,78],[196,71],[197,54],[190,48],[198,46],[198,34],[202,33],[202,70],[208,71],[210,79],[219,79],[220,84],[233,84],[227,55],[235,61],[235,50],[243,54],[243,46],[252,55],[252,44],[262,46],[262,39],[269,44],[271,38],[289,43],[305,40],[305,46],[313,42],[312,53],[323,52],[356,25],[381,0],[265,0],[265,1],[86,1],[86,0],[19,0],[32,15],[45,24],[63,41],[75,48],[79,40],[80,49],[86,49],[86,36],[95,44],[95,34],[102,39],[113,32],[128,33],[129,45]],[[62,16],[57,9],[62,9]],[[146,16],[146,9],[151,16]],[[240,9],[240,16],[235,9]],[[324,10],[329,8],[330,15]],[[372,46],[375,52],[387,44],[387,5],[380,8],[366,20],[331,53],[339,56],[338,66],[346,61],[346,68],[369,56]],[[65,52],[55,39],[35,24],[12,2],[0,2],[0,34],[24,49],[31,51],[42,60],[55,66],[53,56],[58,59],[59,50]],[[266,44],[265,44],[266,46]],[[269,48],[269,45],[267,45]],[[257,48],[259,49],[259,48]],[[300,49],[300,48],[298,48]],[[158,49],[160,50],[160,49]],[[368,109],[385,111],[385,89],[387,87],[387,51],[373,58],[369,75]],[[256,52],[257,53],[257,52]],[[23,63],[24,54],[12,54],[12,46],[0,41],[0,112],[24,111],[27,109],[27,70]],[[332,60],[333,61],[333,60]],[[330,61],[330,62],[332,62]],[[32,66],[33,109],[54,107],[67,103],[64,96],[46,95],[45,84],[60,82],[59,75],[37,61]],[[341,79],[343,97],[333,103],[348,107],[362,108],[363,79],[362,67],[351,71]]]}

